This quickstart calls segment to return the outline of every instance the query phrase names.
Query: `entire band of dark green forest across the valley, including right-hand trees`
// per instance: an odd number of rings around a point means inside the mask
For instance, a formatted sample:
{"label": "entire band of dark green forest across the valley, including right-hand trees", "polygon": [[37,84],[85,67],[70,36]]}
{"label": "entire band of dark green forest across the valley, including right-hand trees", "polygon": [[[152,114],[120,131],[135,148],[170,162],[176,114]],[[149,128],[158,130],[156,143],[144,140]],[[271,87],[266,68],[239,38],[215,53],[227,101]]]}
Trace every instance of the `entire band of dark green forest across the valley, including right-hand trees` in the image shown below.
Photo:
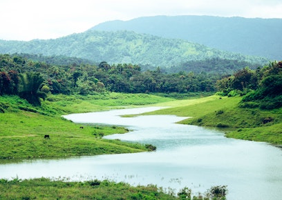
{"label": "entire band of dark green forest across the valley, including right-hand trees", "polygon": [[[35,57],[35,56],[30,56]],[[49,57],[48,59],[61,59]],[[65,58],[66,59],[66,58]],[[74,58],[70,58],[75,61]],[[282,63],[252,70],[248,67],[232,75],[177,72],[165,73],[161,68],[142,71],[131,63],[99,65],[89,63],[55,65],[25,59],[18,55],[0,54],[0,95],[17,94],[30,103],[40,105],[52,94],[95,94],[96,92],[216,92],[222,95],[245,95],[245,106],[272,109],[281,106]],[[69,61],[66,60],[66,63]],[[266,98],[266,99],[265,99]],[[252,101],[252,103],[247,103]],[[254,103],[258,101],[259,103]],[[280,103],[279,103],[280,102]]]}

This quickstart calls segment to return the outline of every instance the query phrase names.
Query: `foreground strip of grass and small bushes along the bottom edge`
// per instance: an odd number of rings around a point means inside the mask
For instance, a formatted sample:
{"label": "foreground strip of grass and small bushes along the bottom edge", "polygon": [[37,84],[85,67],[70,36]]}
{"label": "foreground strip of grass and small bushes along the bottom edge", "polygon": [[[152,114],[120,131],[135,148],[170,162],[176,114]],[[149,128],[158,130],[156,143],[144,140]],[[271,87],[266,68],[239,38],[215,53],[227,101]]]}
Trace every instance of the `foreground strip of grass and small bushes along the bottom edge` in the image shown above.
{"label": "foreground strip of grass and small bushes along the bottom edge", "polygon": [[0,199],[225,199],[226,186],[214,186],[205,194],[192,196],[191,189],[164,191],[157,186],[130,186],[97,179],[85,182],[50,179],[0,179]]}

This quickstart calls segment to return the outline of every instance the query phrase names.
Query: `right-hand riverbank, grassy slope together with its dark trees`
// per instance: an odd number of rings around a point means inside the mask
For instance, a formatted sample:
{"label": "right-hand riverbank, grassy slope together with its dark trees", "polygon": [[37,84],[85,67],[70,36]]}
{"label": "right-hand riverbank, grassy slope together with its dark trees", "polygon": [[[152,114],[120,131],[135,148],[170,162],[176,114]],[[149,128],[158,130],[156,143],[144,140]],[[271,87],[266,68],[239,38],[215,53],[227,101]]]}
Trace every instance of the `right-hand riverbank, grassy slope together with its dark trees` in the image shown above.
{"label": "right-hand riverbank, grassy slope together with its dark trees", "polygon": [[221,96],[176,101],[173,108],[152,113],[192,117],[180,122],[185,124],[234,128],[227,137],[282,144],[282,62],[243,68],[216,87]]}

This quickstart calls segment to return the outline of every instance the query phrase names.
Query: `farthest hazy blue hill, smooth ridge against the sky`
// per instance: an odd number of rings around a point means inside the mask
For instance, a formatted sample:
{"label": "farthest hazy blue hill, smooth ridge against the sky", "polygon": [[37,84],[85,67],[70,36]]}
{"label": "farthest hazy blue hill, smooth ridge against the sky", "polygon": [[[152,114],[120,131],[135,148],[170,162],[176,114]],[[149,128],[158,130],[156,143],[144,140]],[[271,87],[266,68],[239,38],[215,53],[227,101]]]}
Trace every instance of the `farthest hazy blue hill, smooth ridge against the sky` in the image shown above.
{"label": "farthest hazy blue hill, smooth ridge against the sky", "polygon": [[185,39],[230,52],[281,60],[282,19],[242,17],[157,16],[108,21],[91,30],[133,30],[166,38]]}

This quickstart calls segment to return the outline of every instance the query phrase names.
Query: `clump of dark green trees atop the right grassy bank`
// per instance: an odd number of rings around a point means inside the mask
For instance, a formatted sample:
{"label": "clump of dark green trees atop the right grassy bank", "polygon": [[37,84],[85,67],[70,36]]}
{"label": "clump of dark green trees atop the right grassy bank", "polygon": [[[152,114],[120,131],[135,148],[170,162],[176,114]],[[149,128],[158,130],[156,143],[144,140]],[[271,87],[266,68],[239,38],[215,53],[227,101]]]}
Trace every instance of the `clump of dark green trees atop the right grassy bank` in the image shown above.
{"label": "clump of dark green trees atop the right grassy bank", "polygon": [[241,107],[274,109],[282,106],[282,61],[263,68],[243,68],[232,76],[216,81],[219,94],[244,96]]}

